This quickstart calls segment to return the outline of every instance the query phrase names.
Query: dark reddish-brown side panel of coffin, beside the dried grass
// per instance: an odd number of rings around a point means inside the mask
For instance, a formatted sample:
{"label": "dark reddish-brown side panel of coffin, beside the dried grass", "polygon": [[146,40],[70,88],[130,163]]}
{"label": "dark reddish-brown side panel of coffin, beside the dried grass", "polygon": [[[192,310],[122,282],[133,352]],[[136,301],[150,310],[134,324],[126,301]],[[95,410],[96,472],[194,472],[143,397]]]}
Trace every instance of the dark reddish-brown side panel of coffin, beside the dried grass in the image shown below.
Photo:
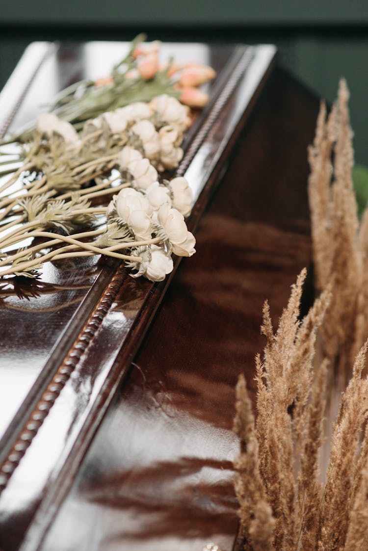
{"label": "dark reddish-brown side panel of coffin, beside the dried grass", "polygon": [[317,109],[282,70],[269,78],[42,551],[232,548],[234,386],[245,371],[254,391],[264,299],[277,318],[310,263]]}

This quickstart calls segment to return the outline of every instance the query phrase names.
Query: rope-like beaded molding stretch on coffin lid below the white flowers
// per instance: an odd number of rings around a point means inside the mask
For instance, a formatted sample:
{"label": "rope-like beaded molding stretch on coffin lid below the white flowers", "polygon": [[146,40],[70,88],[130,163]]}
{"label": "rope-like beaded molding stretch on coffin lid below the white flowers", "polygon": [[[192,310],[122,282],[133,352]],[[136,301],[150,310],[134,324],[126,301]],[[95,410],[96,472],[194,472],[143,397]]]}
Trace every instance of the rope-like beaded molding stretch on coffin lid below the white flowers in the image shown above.
{"label": "rope-like beaded molding stretch on coffin lid below the white flowers", "polygon": [[7,459],[0,467],[0,493],[6,487],[9,478],[18,467],[21,458],[25,455],[25,452],[31,445],[37,431],[46,419],[48,412],[50,412],[50,409],[55,403],[57,397],[72,372],[77,367],[80,358],[91,343],[96,331],[102,323],[102,320],[110,310],[110,307],[115,300],[125,278],[125,269],[122,267],[118,268],[117,272],[111,279],[109,286],[104,291],[104,294],[98,304],[95,306],[88,322],[75,339],[69,353],[66,358],[64,358],[56,373],[53,375],[45,392],[42,394],[28,421],[25,423],[24,428],[20,431],[17,440],[8,453]]}

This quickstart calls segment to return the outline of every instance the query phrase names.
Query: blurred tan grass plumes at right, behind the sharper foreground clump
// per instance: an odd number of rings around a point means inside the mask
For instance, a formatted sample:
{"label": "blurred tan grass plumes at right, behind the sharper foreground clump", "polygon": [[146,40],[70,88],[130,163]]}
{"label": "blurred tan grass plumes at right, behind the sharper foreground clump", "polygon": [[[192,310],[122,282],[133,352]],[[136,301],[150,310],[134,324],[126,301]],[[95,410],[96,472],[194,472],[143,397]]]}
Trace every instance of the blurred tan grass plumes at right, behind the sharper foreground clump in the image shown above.
{"label": "blurred tan grass plumes at right, behind the sharper foreground clump", "polygon": [[344,372],[367,336],[368,220],[359,229],[351,169],[349,92],[340,80],[338,99],[326,118],[321,104],[316,137],[309,148],[309,202],[313,262],[318,292],[331,282],[333,300],[321,328],[323,355]]}

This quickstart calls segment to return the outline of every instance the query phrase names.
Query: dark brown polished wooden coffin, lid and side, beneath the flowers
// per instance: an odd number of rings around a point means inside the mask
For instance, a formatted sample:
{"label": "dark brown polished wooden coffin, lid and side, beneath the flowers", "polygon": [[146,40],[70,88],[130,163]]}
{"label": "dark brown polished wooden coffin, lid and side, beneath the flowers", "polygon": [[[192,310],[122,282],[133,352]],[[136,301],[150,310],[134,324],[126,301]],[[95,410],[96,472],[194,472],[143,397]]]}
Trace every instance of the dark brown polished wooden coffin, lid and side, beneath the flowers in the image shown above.
{"label": "dark brown polished wooden coffin, lid and side, beneath the flowers", "polygon": [[[31,45],[0,95],[4,135],[122,43]],[[177,174],[194,257],[164,282],[118,262],[47,264],[0,287],[0,548],[201,551],[236,541],[234,386],[310,263],[316,99],[272,46],[167,44],[217,69]]]}

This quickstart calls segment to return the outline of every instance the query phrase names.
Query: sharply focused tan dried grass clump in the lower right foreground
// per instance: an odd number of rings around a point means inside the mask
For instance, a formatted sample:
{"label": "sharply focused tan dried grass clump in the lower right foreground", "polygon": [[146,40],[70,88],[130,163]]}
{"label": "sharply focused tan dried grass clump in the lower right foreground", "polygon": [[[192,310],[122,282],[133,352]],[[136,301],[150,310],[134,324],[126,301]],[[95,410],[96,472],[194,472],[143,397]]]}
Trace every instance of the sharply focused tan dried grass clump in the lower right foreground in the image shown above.
{"label": "sharply focused tan dried grass clump in the lower right foreground", "polygon": [[[327,479],[319,479],[328,360],[316,372],[316,333],[331,304],[323,291],[299,319],[303,271],[291,290],[274,333],[268,304],[256,356],[257,421],[241,375],[236,388],[234,430],[240,439],[235,462],[243,549],[340,551],[367,549],[368,439],[360,446],[368,408],[362,378],[368,342],[356,356],[334,424]],[[366,434],[367,434],[366,430]]]}

